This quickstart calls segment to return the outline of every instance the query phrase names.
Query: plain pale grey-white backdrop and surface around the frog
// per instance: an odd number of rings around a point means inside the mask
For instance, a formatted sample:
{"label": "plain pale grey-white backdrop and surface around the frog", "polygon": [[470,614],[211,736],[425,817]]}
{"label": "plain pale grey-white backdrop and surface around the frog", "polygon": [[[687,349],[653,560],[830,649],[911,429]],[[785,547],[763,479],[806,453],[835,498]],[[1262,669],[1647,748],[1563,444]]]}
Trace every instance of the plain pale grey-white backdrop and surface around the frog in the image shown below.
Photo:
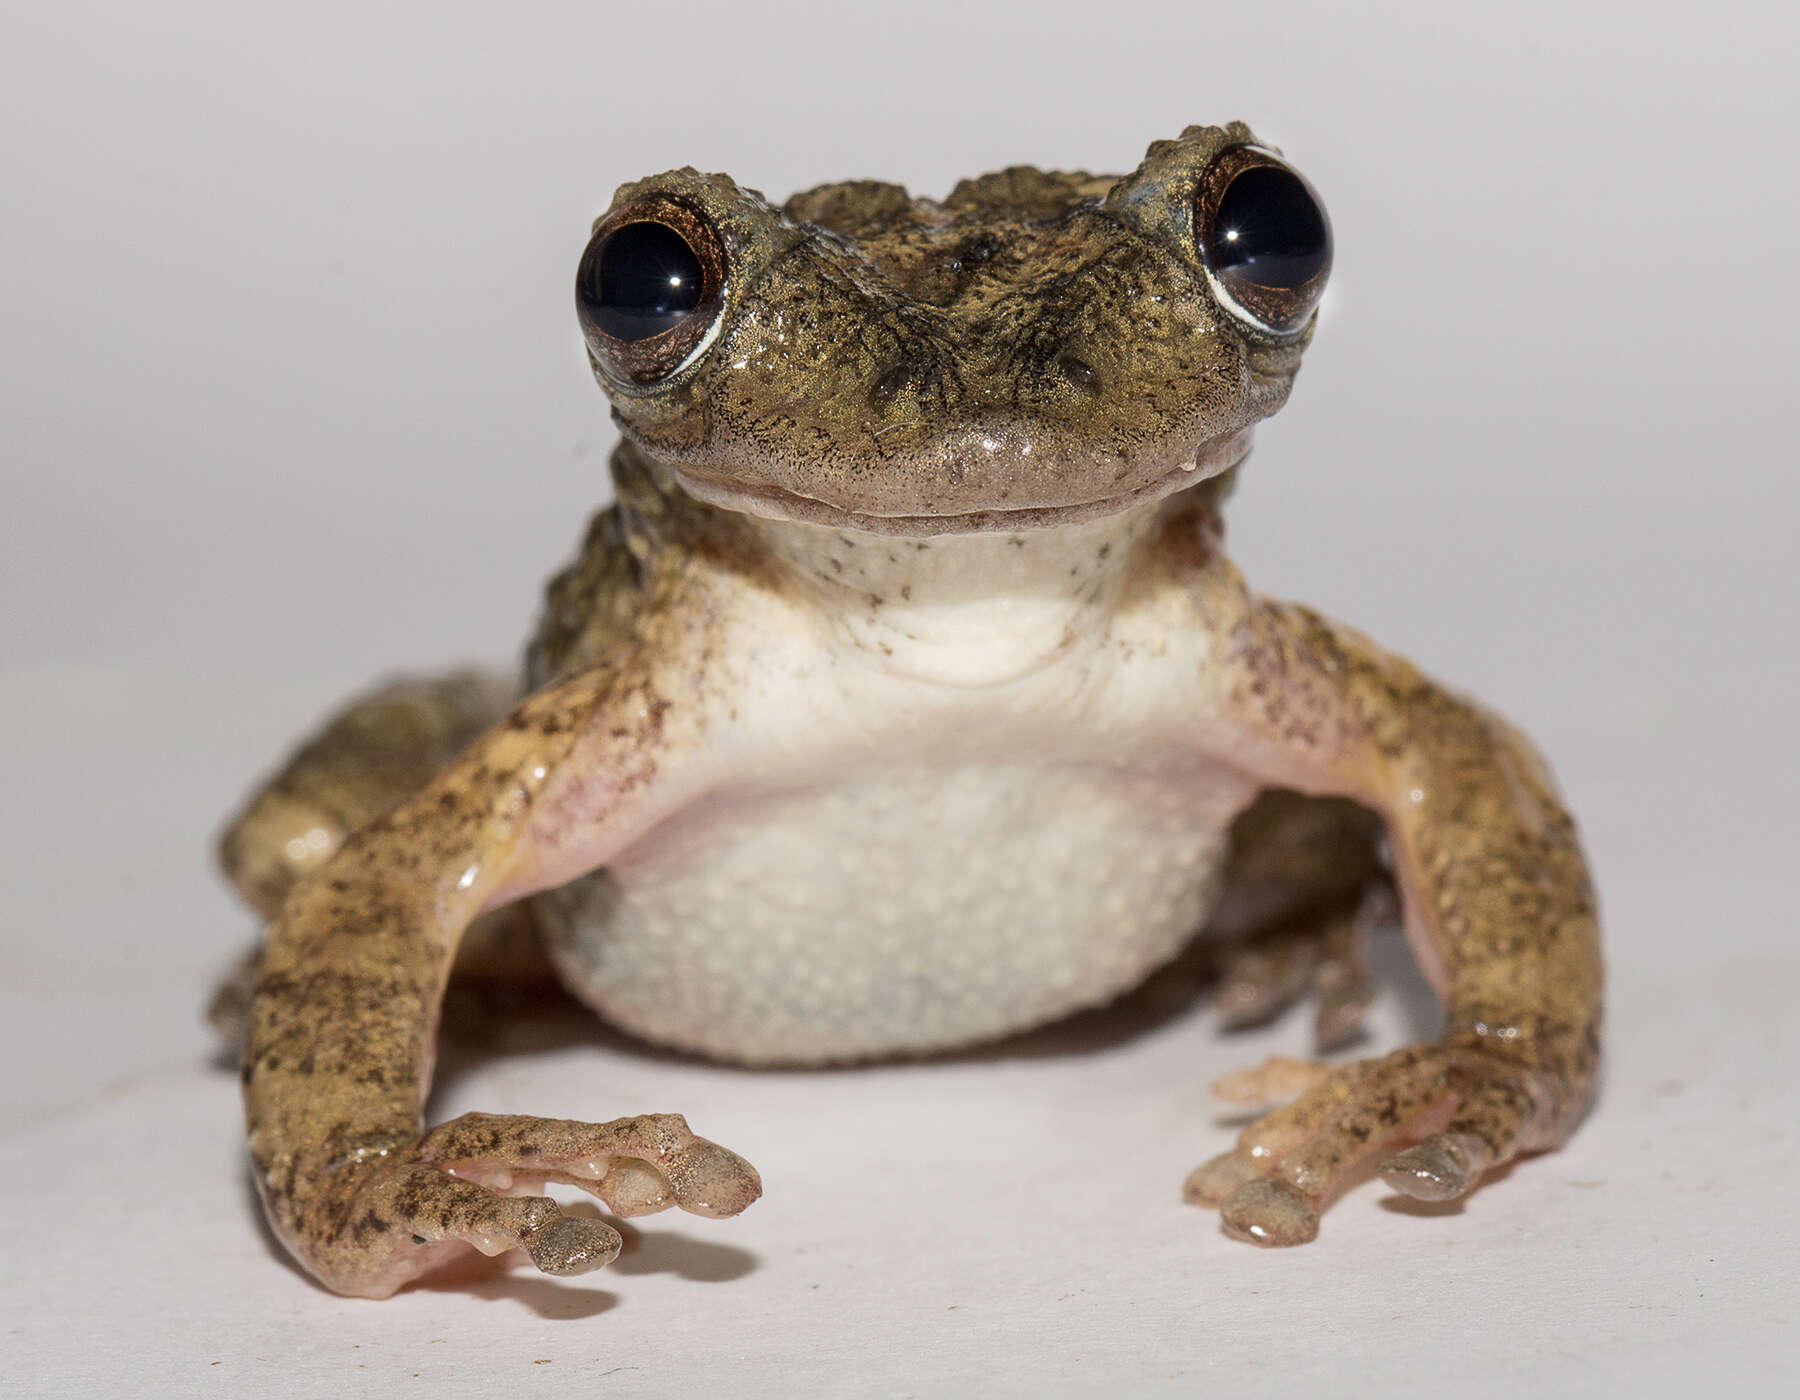
{"label": "plain pale grey-white backdrop and surface around the frog", "polygon": [[[1773,1393],[1800,1371],[1791,5],[14,7],[0,36],[0,1368],[20,1395]],[[560,1028],[434,1112],[682,1110],[761,1168],[608,1272],[382,1305],[286,1267],[198,1008],[247,779],[392,668],[515,653],[612,441],[571,283],[616,184],[945,193],[1249,119],[1337,274],[1233,513],[1264,588],[1548,749],[1611,1065],[1460,1211],[1305,1251],[1165,988],[950,1065],[727,1072]],[[1397,950],[1386,963],[1404,972]],[[1375,1047],[1429,1028],[1417,984]],[[1026,1053],[1030,1051],[1030,1053]],[[610,1378],[607,1378],[610,1377]],[[407,1391],[407,1387],[414,1387]]]}

